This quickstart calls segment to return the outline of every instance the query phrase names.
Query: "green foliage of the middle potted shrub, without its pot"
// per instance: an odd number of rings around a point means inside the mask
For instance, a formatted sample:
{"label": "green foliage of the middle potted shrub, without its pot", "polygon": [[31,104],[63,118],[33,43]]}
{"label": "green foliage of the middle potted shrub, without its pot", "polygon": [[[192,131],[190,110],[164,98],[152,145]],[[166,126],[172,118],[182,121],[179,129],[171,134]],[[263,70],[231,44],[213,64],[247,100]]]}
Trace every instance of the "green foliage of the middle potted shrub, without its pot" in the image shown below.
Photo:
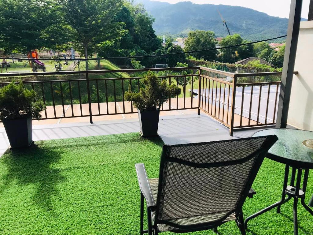
{"label": "green foliage of the middle potted shrub, without its pot", "polygon": [[131,91],[131,86],[125,92],[124,98],[126,101],[132,101],[134,107],[140,111],[160,110],[163,103],[167,102],[169,96],[179,95],[181,89],[176,85],[167,85],[166,80],[161,81],[155,73],[148,72],[143,77],[145,88],[141,87],[139,93]]}

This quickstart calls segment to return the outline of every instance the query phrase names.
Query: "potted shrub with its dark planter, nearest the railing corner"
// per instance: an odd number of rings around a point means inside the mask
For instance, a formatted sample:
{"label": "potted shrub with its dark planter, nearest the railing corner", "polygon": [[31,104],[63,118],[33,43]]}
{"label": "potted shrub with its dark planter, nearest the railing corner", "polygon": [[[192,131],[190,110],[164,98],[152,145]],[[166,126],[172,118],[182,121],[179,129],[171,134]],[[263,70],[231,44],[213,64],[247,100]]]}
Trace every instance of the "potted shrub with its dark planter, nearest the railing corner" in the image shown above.
{"label": "potted shrub with its dark planter, nearest the railing corner", "polygon": [[178,96],[181,89],[174,84],[167,85],[166,80],[161,81],[150,71],[143,77],[143,85],[138,93],[132,92],[129,85],[124,98],[126,101],[132,101],[134,107],[138,109],[141,135],[155,136],[159,126],[161,105],[167,102],[170,96]]}

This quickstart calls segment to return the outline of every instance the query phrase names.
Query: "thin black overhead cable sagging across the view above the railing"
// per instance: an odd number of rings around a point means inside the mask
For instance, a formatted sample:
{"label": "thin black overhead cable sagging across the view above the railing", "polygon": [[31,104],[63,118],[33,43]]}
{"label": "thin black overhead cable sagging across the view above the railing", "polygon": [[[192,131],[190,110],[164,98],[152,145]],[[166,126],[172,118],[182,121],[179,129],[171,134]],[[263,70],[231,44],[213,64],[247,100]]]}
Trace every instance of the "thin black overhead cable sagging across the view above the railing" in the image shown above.
{"label": "thin black overhead cable sagging across the view above the railing", "polygon": [[159,54],[159,55],[136,55],[136,56],[125,56],[125,57],[105,57],[105,58],[90,58],[90,59],[85,59],[85,58],[77,58],[77,59],[64,59],[64,58],[63,59],[29,59],[29,58],[6,58],[6,57],[0,57],[0,59],[7,59],[7,60],[109,60],[109,59],[147,58],[147,57],[158,57],[158,56],[169,56],[169,55],[180,55],[180,54],[192,54],[192,53],[202,52],[202,51],[227,49],[227,48],[232,48],[232,47],[238,47],[238,46],[255,44],[255,43],[259,43],[259,42],[266,42],[266,41],[279,39],[279,38],[284,38],[284,37],[287,37],[287,35],[279,36],[279,37],[276,37],[276,38],[259,40],[259,41],[255,41],[255,42],[248,42],[248,43],[243,43],[243,44],[237,44],[237,45],[232,45],[232,46],[224,46],[224,47],[219,47],[219,48],[214,47],[214,48],[210,48],[210,49],[184,51],[184,52],[176,52],[176,53],[171,53],[171,54]]}

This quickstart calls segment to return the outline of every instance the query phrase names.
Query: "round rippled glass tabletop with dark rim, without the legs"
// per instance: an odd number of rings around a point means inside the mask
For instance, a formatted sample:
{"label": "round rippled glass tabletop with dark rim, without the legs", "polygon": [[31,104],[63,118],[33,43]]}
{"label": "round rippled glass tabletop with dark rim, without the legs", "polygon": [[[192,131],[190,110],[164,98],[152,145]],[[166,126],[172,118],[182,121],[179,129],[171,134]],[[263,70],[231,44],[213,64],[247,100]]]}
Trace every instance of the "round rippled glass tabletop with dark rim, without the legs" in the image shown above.
{"label": "round rippled glass tabletop with dark rim, without the legs", "polygon": [[313,139],[312,131],[277,128],[266,129],[252,136],[277,135],[278,141],[269,149],[267,157],[294,167],[313,169],[313,150],[308,149],[302,141]]}

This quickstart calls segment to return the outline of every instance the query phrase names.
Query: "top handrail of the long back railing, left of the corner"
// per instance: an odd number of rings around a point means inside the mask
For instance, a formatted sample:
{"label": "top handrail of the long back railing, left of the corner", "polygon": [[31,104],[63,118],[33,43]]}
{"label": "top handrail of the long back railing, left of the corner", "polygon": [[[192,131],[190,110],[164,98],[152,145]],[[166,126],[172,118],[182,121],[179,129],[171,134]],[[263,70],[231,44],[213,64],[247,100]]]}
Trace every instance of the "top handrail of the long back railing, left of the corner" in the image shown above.
{"label": "top handrail of the long back railing, left of the corner", "polygon": [[13,76],[38,76],[38,75],[62,75],[62,74],[89,74],[89,73],[132,73],[132,72],[148,72],[148,71],[170,71],[170,70],[192,70],[200,69],[197,67],[175,67],[175,68],[157,68],[157,69],[118,69],[118,70],[80,70],[80,71],[55,71],[55,72],[39,72],[39,73],[5,73],[0,74],[0,77]]}

